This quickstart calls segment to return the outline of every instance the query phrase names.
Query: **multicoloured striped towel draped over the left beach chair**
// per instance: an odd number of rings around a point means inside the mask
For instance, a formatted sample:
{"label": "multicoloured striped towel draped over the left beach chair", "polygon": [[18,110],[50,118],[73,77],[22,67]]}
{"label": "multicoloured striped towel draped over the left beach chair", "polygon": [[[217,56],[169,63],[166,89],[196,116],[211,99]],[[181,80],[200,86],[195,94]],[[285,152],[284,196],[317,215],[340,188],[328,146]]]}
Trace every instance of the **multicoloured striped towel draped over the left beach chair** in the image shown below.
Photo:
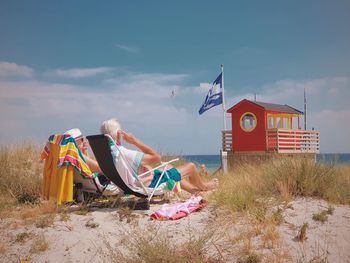
{"label": "multicoloured striped towel draped over the left beach chair", "polygon": [[45,160],[49,156],[50,144],[60,146],[57,167],[72,165],[83,178],[94,177],[74,138],[70,137],[70,135],[51,135],[41,153],[42,160]]}

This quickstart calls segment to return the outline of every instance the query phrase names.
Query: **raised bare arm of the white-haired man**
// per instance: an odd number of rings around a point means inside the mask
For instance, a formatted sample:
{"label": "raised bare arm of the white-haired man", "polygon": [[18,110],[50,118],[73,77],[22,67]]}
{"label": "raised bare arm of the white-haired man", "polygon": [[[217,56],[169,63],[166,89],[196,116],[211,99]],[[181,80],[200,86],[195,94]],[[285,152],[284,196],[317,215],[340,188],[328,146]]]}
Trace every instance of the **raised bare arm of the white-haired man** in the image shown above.
{"label": "raised bare arm of the white-haired man", "polygon": [[130,144],[135,145],[137,148],[139,148],[143,153],[144,157],[142,160],[142,165],[151,165],[155,163],[161,162],[161,156],[160,154],[155,151],[150,146],[143,143],[141,140],[137,139],[134,135],[131,133],[126,133],[124,131],[119,131],[121,133],[122,138]]}

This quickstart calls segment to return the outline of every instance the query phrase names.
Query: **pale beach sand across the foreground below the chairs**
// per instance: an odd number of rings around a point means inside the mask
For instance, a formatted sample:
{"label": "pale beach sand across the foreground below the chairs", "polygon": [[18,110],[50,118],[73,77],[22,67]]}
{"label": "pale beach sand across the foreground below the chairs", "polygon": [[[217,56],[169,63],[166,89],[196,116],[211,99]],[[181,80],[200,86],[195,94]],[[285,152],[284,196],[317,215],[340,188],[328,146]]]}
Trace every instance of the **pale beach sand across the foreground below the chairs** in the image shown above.
{"label": "pale beach sand across the foreground below the chairs", "polygon": [[[0,262],[122,262],[117,254],[128,255],[127,244],[138,236],[163,235],[168,242],[182,244],[209,229],[214,234],[206,252],[223,262],[237,262],[251,253],[259,255],[261,262],[350,262],[350,206],[332,205],[333,214],[322,223],[312,218],[330,205],[298,198],[280,206],[283,221],[275,228],[231,216],[210,204],[177,221],[151,220],[149,215],[159,207],[151,205],[148,211],[130,214],[117,208],[58,214],[53,225],[45,228],[1,219]],[[300,240],[305,223],[305,238]]]}

